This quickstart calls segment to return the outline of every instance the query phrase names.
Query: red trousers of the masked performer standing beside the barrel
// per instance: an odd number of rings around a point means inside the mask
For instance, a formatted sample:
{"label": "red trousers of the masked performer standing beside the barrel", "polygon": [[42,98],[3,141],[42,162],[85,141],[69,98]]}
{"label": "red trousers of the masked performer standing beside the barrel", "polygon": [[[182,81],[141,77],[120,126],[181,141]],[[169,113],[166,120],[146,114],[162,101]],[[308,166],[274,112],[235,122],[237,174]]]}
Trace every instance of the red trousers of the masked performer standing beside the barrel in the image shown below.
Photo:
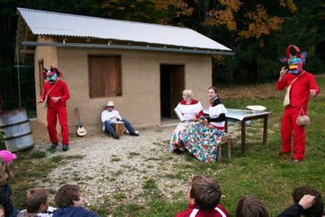
{"label": "red trousers of the masked performer standing beside the barrel", "polygon": [[48,135],[52,143],[58,143],[57,139],[57,119],[61,126],[62,144],[68,144],[68,115],[66,107],[48,107]]}

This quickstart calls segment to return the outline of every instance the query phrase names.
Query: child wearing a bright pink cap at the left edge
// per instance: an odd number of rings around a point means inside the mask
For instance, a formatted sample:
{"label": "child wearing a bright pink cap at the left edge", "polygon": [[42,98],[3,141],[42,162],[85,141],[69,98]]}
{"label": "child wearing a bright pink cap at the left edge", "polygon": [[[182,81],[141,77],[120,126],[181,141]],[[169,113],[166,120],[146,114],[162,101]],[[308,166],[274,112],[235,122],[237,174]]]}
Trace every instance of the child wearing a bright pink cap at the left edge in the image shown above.
{"label": "child wearing a bright pink cap at the left edge", "polygon": [[7,184],[8,179],[12,178],[9,164],[15,158],[17,156],[10,151],[0,151],[0,204],[4,207],[6,217],[16,217],[19,212],[13,207],[13,202],[11,202],[13,192],[10,185]]}

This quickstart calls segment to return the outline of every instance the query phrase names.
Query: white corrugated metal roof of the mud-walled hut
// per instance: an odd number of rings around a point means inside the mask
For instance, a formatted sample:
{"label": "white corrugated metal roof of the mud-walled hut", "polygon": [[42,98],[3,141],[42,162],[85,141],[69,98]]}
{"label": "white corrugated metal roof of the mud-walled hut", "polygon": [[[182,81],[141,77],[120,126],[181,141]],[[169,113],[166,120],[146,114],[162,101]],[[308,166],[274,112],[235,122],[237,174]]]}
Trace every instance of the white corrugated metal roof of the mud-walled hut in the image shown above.
{"label": "white corrugated metal roof of the mud-walled hut", "polygon": [[206,50],[231,51],[201,33],[182,27],[110,20],[44,10],[17,8],[35,35],[126,40]]}

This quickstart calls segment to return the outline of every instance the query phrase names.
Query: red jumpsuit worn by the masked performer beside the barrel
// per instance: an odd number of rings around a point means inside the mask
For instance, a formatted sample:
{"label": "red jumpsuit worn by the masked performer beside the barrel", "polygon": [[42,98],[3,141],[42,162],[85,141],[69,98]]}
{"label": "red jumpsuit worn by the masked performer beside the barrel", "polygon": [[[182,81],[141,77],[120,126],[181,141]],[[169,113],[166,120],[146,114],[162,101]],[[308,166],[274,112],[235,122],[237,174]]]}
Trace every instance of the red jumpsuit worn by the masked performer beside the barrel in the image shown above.
{"label": "red jumpsuit worn by the masked performer beside the barrel", "polygon": [[[45,100],[45,95],[55,85],[55,87],[48,93],[48,134],[52,143],[58,143],[57,139],[57,118],[61,126],[62,144],[68,145],[68,115],[66,113],[66,100],[70,98],[68,87],[66,82],[57,78],[57,84],[55,82],[51,84],[45,81],[41,99]],[[56,103],[51,100],[51,97],[60,97]]]}

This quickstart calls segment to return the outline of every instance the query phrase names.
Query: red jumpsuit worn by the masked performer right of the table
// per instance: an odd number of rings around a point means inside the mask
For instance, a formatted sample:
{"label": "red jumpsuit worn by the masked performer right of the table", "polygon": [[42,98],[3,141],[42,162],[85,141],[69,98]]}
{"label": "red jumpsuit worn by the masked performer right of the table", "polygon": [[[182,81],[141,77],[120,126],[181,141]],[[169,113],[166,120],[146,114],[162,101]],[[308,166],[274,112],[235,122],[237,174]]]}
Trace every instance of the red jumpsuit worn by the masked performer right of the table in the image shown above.
{"label": "red jumpsuit worn by the masked performer right of the table", "polygon": [[[300,72],[302,73],[302,72]],[[277,80],[276,89],[283,90],[289,86],[300,73],[294,75],[287,73],[281,81]],[[316,95],[319,88],[315,81],[314,75],[305,72],[301,77],[292,84],[290,90],[290,105],[284,110],[281,123],[282,137],[282,153],[291,152],[291,131],[294,130],[294,156],[296,160],[303,160],[305,157],[305,126],[298,126],[296,119],[303,108],[303,112],[307,114],[308,100],[310,97],[310,89],[315,89]]]}

